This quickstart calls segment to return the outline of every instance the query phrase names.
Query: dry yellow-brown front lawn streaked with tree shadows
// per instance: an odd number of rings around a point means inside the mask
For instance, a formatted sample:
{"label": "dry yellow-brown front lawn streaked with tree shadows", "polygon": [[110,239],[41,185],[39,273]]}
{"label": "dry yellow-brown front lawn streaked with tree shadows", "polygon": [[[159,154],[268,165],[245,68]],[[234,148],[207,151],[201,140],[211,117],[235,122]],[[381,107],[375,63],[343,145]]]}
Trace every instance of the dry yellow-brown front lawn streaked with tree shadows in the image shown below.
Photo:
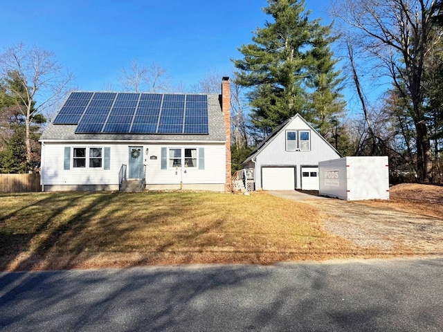
{"label": "dry yellow-brown front lawn streaked with tree shadows", "polygon": [[355,250],[311,205],[264,192],[0,194],[0,270],[271,264]]}

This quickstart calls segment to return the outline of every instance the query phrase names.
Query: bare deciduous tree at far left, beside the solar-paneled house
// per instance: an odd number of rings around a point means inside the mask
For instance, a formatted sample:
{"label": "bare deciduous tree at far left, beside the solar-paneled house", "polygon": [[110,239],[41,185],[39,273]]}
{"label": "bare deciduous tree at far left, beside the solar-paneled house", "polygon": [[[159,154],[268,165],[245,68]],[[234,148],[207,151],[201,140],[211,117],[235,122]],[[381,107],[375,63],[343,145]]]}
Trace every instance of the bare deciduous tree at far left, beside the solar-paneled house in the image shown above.
{"label": "bare deciduous tree at far left, beside the solar-paneled house", "polygon": [[27,48],[24,44],[8,48],[0,55],[1,77],[8,77],[12,73],[21,82],[20,89],[9,85],[10,91],[7,93],[17,100],[17,106],[25,118],[26,160],[30,162],[32,118],[60,102],[60,98],[69,91],[74,77],[69,71],[63,71],[53,53],[37,46]]}

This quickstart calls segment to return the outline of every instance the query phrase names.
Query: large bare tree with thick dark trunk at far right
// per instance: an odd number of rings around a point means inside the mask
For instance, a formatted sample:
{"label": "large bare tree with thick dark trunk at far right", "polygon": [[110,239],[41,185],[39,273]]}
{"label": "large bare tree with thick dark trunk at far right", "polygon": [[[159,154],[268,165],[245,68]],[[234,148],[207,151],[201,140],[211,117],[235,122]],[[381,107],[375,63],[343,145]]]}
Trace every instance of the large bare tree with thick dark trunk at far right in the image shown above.
{"label": "large bare tree with thick dark trunk at far right", "polygon": [[[431,145],[424,112],[424,61],[435,38],[436,0],[337,0],[334,15],[352,30],[355,46],[376,59],[403,98],[413,105],[417,136],[417,170],[421,181],[432,180]],[[432,37],[431,37],[432,36]]]}

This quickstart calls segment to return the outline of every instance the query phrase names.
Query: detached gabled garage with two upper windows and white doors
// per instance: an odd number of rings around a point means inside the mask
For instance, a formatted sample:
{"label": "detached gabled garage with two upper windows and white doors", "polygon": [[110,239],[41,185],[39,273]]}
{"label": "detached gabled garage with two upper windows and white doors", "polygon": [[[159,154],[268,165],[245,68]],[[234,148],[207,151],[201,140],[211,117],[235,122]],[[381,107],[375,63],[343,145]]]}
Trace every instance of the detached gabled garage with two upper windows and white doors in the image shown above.
{"label": "detached gabled garage with two upper windows and white doors", "polygon": [[[299,114],[269,135],[242,166],[251,190],[318,190],[318,163],[338,151]],[[253,185],[251,185],[253,183]]]}

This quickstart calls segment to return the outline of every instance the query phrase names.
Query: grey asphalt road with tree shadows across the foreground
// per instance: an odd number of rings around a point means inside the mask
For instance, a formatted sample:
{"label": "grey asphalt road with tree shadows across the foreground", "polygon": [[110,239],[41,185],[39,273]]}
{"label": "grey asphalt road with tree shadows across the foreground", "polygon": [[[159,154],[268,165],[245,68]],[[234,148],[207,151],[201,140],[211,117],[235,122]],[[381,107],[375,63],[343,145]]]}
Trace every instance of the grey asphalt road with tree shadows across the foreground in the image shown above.
{"label": "grey asphalt road with tree shadows across the foreground", "polygon": [[0,273],[0,331],[443,331],[443,258]]}

